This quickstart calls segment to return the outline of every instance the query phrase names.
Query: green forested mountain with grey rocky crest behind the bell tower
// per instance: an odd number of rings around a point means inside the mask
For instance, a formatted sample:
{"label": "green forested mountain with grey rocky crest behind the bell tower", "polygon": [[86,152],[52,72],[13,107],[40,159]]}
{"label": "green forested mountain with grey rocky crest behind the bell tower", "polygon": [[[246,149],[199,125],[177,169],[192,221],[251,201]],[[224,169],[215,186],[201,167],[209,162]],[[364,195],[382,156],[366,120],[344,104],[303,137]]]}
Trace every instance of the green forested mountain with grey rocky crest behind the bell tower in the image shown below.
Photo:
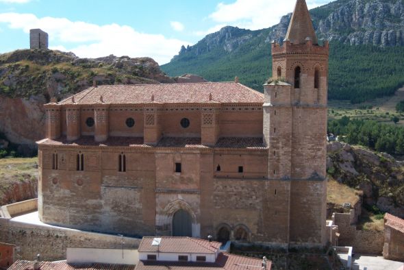
{"label": "green forested mountain with grey rocky crest behind the bell tower", "polygon": [[[403,0],[337,0],[310,13],[319,40],[331,41],[331,99],[360,102],[392,95],[404,84],[397,75],[404,71]],[[290,16],[256,31],[223,27],[196,45],[181,47],[161,68],[172,76],[190,72],[211,81],[237,75],[243,84],[262,90],[271,72],[270,42],[282,43]]]}

